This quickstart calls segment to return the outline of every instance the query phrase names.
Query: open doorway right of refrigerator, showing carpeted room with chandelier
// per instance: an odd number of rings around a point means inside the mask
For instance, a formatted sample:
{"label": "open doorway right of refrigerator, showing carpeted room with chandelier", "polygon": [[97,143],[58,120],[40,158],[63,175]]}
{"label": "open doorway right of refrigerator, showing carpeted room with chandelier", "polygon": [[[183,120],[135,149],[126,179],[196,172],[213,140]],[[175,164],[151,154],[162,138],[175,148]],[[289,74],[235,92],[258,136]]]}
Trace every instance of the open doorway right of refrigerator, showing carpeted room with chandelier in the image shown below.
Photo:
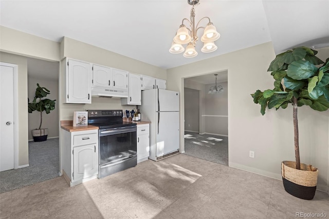
{"label": "open doorway right of refrigerator, showing carpeted room with chandelier", "polygon": [[[227,71],[221,71],[184,79],[185,153],[226,166],[228,166],[227,78]],[[214,87],[223,90],[213,94],[209,90]],[[198,115],[195,114],[196,109]],[[198,129],[191,125],[195,120],[198,120]]]}

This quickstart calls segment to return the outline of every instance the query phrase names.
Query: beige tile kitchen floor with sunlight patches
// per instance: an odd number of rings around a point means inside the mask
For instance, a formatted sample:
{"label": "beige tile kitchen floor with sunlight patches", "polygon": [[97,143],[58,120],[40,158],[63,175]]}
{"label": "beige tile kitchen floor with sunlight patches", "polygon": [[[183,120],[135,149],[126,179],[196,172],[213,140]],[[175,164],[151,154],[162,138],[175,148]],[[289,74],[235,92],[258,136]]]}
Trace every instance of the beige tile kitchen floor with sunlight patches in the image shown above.
{"label": "beige tile kitchen floor with sunlight patches", "polygon": [[289,195],[282,182],[185,154],[69,188],[63,177],[0,194],[1,218],[296,218],[329,196]]}

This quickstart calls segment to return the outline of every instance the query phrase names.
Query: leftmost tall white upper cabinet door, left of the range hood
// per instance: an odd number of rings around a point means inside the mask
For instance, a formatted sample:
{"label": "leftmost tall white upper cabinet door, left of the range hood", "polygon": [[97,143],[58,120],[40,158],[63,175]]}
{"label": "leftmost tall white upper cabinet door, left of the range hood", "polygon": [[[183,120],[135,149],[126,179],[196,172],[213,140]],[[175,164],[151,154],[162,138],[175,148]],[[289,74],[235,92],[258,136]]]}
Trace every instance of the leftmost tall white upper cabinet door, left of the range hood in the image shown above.
{"label": "leftmost tall white upper cabinet door, left of the range hood", "polygon": [[68,59],[66,103],[92,103],[92,68],[89,63]]}

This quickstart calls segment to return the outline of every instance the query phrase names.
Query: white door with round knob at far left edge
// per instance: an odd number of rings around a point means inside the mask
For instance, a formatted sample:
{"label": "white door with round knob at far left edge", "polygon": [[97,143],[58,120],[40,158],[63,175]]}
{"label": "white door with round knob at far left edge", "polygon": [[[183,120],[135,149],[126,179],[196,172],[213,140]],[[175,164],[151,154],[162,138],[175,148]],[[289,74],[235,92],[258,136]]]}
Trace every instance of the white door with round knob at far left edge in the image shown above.
{"label": "white door with round knob at far left edge", "polygon": [[0,171],[14,169],[13,67],[0,69]]}

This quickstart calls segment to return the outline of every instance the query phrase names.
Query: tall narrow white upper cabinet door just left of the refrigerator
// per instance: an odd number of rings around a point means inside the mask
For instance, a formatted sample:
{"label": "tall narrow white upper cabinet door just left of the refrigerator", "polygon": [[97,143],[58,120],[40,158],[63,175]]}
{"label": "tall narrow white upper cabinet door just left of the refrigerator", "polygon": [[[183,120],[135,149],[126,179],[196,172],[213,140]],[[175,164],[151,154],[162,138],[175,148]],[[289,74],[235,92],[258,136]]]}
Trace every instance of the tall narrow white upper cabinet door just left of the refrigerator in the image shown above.
{"label": "tall narrow white upper cabinet door just left of the refrigerator", "polygon": [[129,104],[141,105],[140,75],[129,73]]}

